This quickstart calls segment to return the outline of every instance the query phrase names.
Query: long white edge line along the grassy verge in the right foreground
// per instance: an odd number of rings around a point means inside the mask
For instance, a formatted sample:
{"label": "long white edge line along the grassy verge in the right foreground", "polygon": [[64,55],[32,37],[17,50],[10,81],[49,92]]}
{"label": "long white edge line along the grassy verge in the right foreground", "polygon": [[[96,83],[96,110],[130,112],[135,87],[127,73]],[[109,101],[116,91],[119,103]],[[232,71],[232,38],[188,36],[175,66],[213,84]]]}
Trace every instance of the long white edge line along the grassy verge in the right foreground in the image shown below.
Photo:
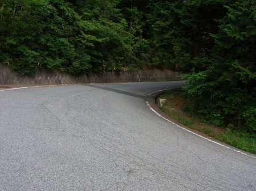
{"label": "long white edge line along the grassy verge in the right foreground", "polygon": [[201,137],[201,138],[203,138],[203,139],[205,139],[205,140],[207,140],[207,141],[210,141],[210,142],[215,143],[215,144],[217,144],[217,145],[220,145],[220,146],[222,146],[222,147],[228,148],[229,150],[236,151],[236,152],[239,152],[239,153],[241,153],[241,154],[243,154],[243,155],[250,156],[251,158],[256,159],[256,157],[253,156],[253,155],[248,155],[248,154],[246,154],[245,152],[241,152],[241,151],[238,151],[238,150],[236,150],[236,149],[230,148],[230,147],[228,147],[228,146],[222,145],[221,143],[218,143],[218,142],[216,142],[216,141],[212,141],[211,139],[208,139],[208,138],[203,137],[203,136],[201,136],[201,135],[199,135],[199,134],[196,134],[195,132],[193,132],[193,131],[191,131],[191,130],[185,129],[185,128],[183,128],[182,126],[175,124],[175,122],[172,122],[171,120],[168,120],[166,117],[164,117],[164,116],[162,116],[161,114],[159,114],[158,112],[156,112],[156,111],[150,106],[150,104],[149,104],[147,101],[146,101],[146,104],[147,104],[148,108],[151,109],[152,112],[154,112],[155,114],[157,114],[159,117],[163,118],[164,120],[170,122],[171,124],[176,125],[178,128],[184,129],[185,131],[188,131],[189,133],[192,133],[192,134],[194,134],[194,135],[197,135],[197,136],[199,136],[199,137]]}

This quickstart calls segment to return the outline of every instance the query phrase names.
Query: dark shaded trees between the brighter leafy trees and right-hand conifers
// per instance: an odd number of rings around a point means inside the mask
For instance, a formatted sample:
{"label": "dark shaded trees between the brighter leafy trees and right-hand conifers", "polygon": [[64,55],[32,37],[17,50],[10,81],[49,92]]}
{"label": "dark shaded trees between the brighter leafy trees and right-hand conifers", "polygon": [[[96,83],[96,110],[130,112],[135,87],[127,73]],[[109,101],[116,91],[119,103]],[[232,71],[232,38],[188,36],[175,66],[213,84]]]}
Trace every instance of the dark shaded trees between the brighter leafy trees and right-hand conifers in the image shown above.
{"label": "dark shaded trees between the brighter leafy trees and right-hand conifers", "polygon": [[210,33],[218,31],[223,5],[225,1],[150,1],[155,62],[185,73],[207,69],[214,46]]}

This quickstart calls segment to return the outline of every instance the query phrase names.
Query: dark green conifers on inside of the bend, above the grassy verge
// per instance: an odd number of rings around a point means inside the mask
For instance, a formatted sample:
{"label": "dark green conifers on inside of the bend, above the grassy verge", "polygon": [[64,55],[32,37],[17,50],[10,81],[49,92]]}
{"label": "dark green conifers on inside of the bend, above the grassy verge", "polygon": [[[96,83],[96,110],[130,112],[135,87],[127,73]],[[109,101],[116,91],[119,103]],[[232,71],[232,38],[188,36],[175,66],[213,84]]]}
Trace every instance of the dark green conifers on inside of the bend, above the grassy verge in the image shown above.
{"label": "dark green conifers on inside of the bend, above the grassy verge", "polygon": [[225,7],[227,14],[218,20],[220,32],[211,35],[216,42],[212,65],[185,75],[184,90],[191,112],[216,125],[255,132],[255,3],[236,1]]}

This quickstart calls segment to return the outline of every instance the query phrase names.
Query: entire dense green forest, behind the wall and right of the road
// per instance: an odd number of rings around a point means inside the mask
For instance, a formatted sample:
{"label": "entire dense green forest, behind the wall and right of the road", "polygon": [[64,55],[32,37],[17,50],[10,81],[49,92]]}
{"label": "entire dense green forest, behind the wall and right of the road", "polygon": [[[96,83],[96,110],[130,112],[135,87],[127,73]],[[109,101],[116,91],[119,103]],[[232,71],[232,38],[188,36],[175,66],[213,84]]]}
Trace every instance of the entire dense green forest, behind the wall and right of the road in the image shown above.
{"label": "entire dense green forest, behind the wall and right of the road", "polygon": [[0,34],[20,74],[172,69],[188,111],[256,131],[255,0],[1,0]]}

